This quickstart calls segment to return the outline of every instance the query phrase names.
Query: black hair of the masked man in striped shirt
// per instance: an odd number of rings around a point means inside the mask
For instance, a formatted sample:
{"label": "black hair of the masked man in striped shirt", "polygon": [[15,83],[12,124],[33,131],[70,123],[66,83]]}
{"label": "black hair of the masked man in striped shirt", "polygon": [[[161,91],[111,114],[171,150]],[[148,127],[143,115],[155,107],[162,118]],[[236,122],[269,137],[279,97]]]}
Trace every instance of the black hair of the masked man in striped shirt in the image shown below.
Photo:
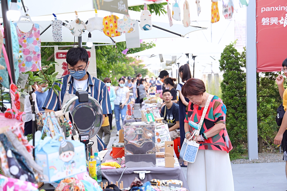
{"label": "black hair of the masked man in striped shirt", "polygon": [[85,48],[71,48],[66,55],[66,61],[70,66],[75,66],[79,61],[88,64],[89,55]]}

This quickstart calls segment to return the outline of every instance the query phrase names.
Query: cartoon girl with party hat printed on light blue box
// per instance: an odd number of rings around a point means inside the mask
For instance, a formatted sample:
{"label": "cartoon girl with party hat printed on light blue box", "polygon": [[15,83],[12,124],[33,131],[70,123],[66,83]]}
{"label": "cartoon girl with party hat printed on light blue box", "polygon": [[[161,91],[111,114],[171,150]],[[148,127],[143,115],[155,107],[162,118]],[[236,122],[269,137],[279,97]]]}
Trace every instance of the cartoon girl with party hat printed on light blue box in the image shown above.
{"label": "cartoon girl with party hat printed on light blue box", "polygon": [[59,141],[61,142],[61,147],[59,148],[59,159],[65,162],[65,165],[73,163],[74,161],[72,161],[72,159],[75,155],[73,144],[67,142],[63,137],[59,137]]}

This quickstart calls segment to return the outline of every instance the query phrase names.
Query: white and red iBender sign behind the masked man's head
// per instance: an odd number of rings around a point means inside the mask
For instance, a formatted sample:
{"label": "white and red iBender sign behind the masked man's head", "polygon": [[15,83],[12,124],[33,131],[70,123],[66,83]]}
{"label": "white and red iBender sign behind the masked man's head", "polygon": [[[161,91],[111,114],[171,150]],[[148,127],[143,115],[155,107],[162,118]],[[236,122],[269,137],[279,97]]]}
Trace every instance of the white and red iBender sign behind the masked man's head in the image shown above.
{"label": "white and red iBender sign behind the masked man's head", "polygon": [[[56,76],[57,78],[69,74],[68,71],[68,64],[66,61],[66,55],[68,50],[58,50],[58,47],[55,46],[55,62],[59,64],[55,65],[55,71],[59,72]],[[97,77],[97,64],[96,64],[96,50],[95,46],[92,46],[92,49],[87,49],[88,56],[89,56],[89,67],[88,72],[93,77]]]}

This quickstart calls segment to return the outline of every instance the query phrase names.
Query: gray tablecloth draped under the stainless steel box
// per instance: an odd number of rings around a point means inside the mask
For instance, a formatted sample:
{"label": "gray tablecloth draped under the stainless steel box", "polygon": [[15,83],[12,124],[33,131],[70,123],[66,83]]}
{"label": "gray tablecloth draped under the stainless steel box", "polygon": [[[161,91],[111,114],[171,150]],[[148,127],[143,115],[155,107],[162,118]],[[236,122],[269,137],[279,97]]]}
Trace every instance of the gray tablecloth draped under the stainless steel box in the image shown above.
{"label": "gray tablecloth draped under the stainless steel box", "polygon": [[[110,151],[112,149],[109,149],[106,155],[104,156],[104,159],[102,160],[102,163],[104,163],[106,160],[111,160],[110,157]],[[117,169],[102,169],[102,177],[106,178],[109,183],[113,182],[115,184],[119,178],[121,177],[121,174],[125,168],[117,168]],[[127,188],[130,186],[131,182],[135,179],[135,177],[139,178],[139,174],[134,174],[133,171],[150,171],[150,173],[146,174],[146,177],[144,180],[141,180],[141,182],[145,183],[152,179],[160,179],[160,180],[181,180],[183,182],[183,187],[187,188],[187,182],[185,180],[183,171],[181,170],[181,167],[174,167],[174,168],[166,168],[166,167],[134,167],[134,168],[126,168],[123,176],[120,180],[123,181],[124,188]]]}

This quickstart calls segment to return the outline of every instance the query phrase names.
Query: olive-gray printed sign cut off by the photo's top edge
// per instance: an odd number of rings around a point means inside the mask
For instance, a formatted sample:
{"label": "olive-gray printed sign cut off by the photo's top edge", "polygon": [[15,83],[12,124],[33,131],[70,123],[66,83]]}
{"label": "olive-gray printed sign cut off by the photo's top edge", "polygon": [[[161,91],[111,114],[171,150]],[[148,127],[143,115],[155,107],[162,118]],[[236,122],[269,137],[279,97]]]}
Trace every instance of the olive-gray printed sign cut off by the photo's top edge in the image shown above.
{"label": "olive-gray printed sign cut off by the photo's top edge", "polygon": [[128,15],[127,0],[93,0],[94,9]]}

